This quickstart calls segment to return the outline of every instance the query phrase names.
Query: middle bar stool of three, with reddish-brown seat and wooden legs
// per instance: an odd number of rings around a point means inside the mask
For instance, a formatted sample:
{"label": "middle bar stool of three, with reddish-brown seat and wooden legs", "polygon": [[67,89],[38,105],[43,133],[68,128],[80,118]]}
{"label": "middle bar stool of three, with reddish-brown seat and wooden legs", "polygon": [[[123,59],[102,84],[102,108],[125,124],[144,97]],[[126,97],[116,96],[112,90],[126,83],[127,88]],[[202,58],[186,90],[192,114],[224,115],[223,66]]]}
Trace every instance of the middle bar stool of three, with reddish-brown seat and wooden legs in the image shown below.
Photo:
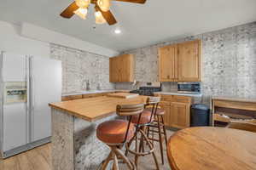
{"label": "middle bar stool of three, with reddish-brown seat and wooden legs", "polygon": [[[135,166],[137,167],[137,161],[139,156],[147,156],[152,155],[154,157],[154,163],[157,169],[160,169],[157,158],[154,153],[154,146],[148,139],[148,136],[145,133],[145,129],[148,125],[150,125],[154,121],[154,103],[158,103],[160,100],[159,97],[149,97],[147,101],[147,105],[152,105],[152,111],[144,110],[140,116],[132,116],[131,122],[136,126],[136,133],[134,137],[130,140],[130,142],[126,143],[126,151],[125,156],[127,156],[128,152],[135,155]],[[139,147],[138,145],[139,139]],[[135,150],[131,150],[131,143],[135,141]],[[148,145],[149,150],[145,151],[144,142]]]}

